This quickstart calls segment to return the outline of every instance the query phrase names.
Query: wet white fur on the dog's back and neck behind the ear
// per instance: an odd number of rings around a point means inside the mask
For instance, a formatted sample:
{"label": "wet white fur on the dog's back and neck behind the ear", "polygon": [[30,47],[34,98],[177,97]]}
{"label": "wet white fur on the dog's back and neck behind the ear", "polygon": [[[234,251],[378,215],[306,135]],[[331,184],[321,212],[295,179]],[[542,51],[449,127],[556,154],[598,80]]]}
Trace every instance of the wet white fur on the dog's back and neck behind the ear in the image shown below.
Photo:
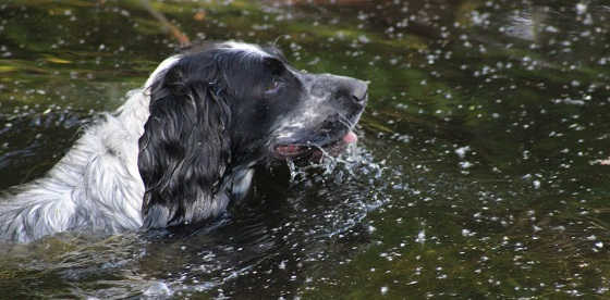
{"label": "wet white fur on the dog's back and neck behind the ear", "polygon": [[[125,105],[138,97],[133,92]],[[0,200],[0,239],[27,242],[73,228],[111,234],[142,225],[138,130],[122,122],[127,110],[87,128],[45,177]]]}

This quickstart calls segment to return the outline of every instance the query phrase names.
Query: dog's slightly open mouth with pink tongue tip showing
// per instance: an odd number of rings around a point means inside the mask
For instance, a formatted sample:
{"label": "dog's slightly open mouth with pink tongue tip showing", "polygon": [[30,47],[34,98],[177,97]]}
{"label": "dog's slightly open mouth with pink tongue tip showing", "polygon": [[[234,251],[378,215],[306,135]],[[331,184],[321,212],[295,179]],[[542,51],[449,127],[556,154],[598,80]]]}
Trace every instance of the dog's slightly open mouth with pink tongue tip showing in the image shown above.
{"label": "dog's slightly open mouth with pink tongue tip showing", "polygon": [[289,143],[279,145],[276,147],[274,152],[279,158],[296,158],[303,157],[312,152],[326,152],[331,155],[341,153],[347,145],[355,143],[358,137],[354,132],[347,130],[342,138],[335,140],[328,140],[321,143]]}

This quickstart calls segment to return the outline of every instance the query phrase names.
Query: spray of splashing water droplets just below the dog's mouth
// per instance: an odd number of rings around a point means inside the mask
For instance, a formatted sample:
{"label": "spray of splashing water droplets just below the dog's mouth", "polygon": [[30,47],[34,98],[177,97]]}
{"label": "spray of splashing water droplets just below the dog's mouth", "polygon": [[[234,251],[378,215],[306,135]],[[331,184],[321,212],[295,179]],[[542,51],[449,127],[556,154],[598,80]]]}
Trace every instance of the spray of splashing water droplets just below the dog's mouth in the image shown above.
{"label": "spray of splashing water droplets just below the dog's mouth", "polygon": [[369,212],[390,202],[391,184],[382,179],[388,170],[385,160],[379,161],[364,147],[349,145],[340,155],[318,150],[320,158],[306,165],[286,161],[292,190],[298,195],[293,205],[306,208],[307,215],[322,216],[294,226],[314,238],[341,237],[363,224]]}

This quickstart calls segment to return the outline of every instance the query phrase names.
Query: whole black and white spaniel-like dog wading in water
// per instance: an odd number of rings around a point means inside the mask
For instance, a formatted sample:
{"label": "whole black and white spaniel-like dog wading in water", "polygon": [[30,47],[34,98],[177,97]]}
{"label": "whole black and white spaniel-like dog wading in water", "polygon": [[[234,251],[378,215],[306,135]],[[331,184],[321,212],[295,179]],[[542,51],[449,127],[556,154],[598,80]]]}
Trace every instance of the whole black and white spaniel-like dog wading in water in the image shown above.
{"label": "whole black and white spaniel-like dog wading in water", "polygon": [[163,61],[47,176],[0,200],[0,239],[183,225],[246,195],[254,166],[356,140],[365,82],[223,42]]}

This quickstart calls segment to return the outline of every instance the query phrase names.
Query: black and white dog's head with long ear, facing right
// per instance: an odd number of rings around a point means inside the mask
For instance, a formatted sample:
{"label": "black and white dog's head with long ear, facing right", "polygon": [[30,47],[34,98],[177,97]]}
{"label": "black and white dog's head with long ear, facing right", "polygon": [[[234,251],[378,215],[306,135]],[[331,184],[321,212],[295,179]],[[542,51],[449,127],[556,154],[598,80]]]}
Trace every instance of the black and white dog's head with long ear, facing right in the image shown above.
{"label": "black and white dog's head with long ear, facing right", "polygon": [[152,80],[138,155],[147,227],[218,215],[260,162],[354,142],[367,101],[365,82],[240,42],[192,49]]}

